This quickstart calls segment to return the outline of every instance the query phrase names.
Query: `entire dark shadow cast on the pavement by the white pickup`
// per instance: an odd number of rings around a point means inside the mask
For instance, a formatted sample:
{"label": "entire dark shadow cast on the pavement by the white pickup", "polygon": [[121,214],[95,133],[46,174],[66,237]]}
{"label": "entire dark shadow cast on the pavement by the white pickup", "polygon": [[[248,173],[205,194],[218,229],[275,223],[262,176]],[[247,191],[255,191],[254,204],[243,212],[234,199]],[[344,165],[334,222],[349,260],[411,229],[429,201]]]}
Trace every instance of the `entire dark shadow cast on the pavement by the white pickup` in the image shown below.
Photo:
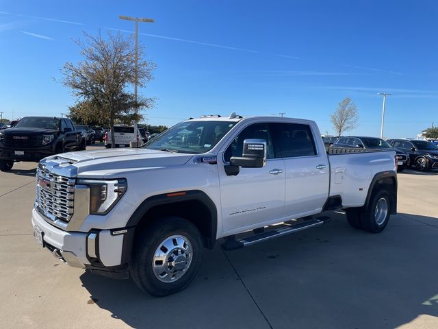
{"label": "entire dark shadow cast on the pavement by the white pickup", "polygon": [[330,215],[321,228],[227,252],[239,276],[218,247],[206,251],[176,295],[151,297],[131,280],[90,273],[81,281],[91,302],[134,328],[170,328],[175,315],[179,328],[266,328],[257,306],[272,328],[396,328],[422,315],[436,325],[438,219],[400,214],[369,234]]}

